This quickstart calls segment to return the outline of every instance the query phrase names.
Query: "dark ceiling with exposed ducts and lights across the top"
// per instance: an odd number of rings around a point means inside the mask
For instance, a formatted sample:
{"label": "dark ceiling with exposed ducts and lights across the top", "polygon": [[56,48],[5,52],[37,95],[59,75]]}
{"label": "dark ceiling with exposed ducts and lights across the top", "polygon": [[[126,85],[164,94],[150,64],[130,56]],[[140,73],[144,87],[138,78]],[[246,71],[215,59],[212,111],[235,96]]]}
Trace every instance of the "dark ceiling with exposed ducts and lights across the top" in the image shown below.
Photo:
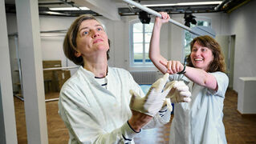
{"label": "dark ceiling with exposed ducts and lights across the top", "polygon": [[[221,0],[134,0],[141,5],[151,4],[170,4],[181,2],[213,2]],[[6,12],[15,13],[15,1],[5,0]],[[80,14],[92,14],[95,16],[103,15],[112,20],[119,20],[120,16],[137,15],[140,9],[128,5],[122,0],[38,0],[40,15],[59,15],[59,16],[79,16]],[[223,0],[221,4],[211,5],[188,5],[188,6],[151,6],[152,10],[165,11],[169,14],[185,13],[213,13],[213,12],[231,12],[242,6],[250,0]],[[50,10],[56,7],[81,7],[86,6],[90,10]]]}

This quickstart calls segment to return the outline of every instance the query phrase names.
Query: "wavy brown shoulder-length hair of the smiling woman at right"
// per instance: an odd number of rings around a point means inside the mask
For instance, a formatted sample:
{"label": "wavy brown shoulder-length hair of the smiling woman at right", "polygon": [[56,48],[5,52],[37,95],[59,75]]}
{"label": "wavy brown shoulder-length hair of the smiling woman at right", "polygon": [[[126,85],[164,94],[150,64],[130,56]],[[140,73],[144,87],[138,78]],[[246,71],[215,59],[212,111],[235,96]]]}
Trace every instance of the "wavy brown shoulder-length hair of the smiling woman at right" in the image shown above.
{"label": "wavy brown shoulder-length hair of the smiling woman at right", "polygon": [[[190,42],[190,50],[192,51],[193,45],[195,42],[198,42],[199,45],[205,46],[212,50],[213,53],[213,62],[209,64],[209,67],[207,68],[207,72],[215,72],[215,71],[221,71],[226,72],[226,65],[224,61],[224,56],[221,53],[221,46],[217,43],[217,41],[214,38],[211,38],[208,35],[200,36],[197,38],[194,38],[192,42]],[[188,66],[193,66],[193,63],[191,61],[190,57],[191,53],[187,55],[186,62]]]}

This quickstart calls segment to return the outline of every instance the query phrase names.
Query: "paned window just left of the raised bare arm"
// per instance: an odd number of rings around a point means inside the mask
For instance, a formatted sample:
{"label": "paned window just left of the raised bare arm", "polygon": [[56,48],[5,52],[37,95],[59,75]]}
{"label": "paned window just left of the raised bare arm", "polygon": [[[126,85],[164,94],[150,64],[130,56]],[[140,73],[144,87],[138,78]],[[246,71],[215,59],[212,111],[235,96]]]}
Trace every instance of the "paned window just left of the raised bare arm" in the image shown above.
{"label": "paned window just left of the raised bare arm", "polygon": [[152,34],[153,23],[142,24],[140,20],[131,23],[131,66],[153,66],[148,58],[149,42]]}

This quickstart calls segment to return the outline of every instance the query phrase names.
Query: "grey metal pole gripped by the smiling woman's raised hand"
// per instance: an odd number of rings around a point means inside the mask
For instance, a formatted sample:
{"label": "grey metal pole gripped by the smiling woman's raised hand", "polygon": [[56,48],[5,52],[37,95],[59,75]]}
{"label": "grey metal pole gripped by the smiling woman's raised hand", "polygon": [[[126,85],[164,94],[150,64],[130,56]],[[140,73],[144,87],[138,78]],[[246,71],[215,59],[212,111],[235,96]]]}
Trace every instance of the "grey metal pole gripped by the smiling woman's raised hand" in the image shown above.
{"label": "grey metal pole gripped by the smiling woman's raised hand", "polygon": [[[146,11],[146,12],[148,12],[149,14],[153,14],[153,15],[155,15],[156,17],[161,18],[161,14],[159,14],[159,13],[156,12],[155,10],[149,9],[149,8],[146,7],[146,6],[140,5],[140,3],[133,2],[132,0],[123,0],[123,1],[129,3],[129,4],[133,5],[133,6],[136,6],[137,8],[139,8],[139,9],[141,9],[141,10]],[[201,34],[198,34],[196,31],[191,30],[191,28],[189,28],[188,26],[182,25],[180,22],[174,21],[172,18],[169,19],[169,22],[173,23],[173,24],[176,25],[176,26],[181,27],[182,29],[188,30],[188,31],[189,31],[190,33],[192,33],[192,34],[196,34],[196,35],[198,35],[198,36],[201,35]]]}

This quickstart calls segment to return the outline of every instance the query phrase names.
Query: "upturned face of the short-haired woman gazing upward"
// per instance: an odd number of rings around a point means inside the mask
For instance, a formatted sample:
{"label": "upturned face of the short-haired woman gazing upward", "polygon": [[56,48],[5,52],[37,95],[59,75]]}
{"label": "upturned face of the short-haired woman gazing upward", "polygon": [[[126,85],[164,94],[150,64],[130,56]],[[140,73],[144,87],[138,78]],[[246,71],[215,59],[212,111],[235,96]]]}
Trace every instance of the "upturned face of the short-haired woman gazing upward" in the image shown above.
{"label": "upturned face of the short-haired woman gazing upward", "polygon": [[100,22],[94,19],[83,21],[76,36],[75,56],[91,58],[104,54],[107,57],[108,49],[108,35]]}

